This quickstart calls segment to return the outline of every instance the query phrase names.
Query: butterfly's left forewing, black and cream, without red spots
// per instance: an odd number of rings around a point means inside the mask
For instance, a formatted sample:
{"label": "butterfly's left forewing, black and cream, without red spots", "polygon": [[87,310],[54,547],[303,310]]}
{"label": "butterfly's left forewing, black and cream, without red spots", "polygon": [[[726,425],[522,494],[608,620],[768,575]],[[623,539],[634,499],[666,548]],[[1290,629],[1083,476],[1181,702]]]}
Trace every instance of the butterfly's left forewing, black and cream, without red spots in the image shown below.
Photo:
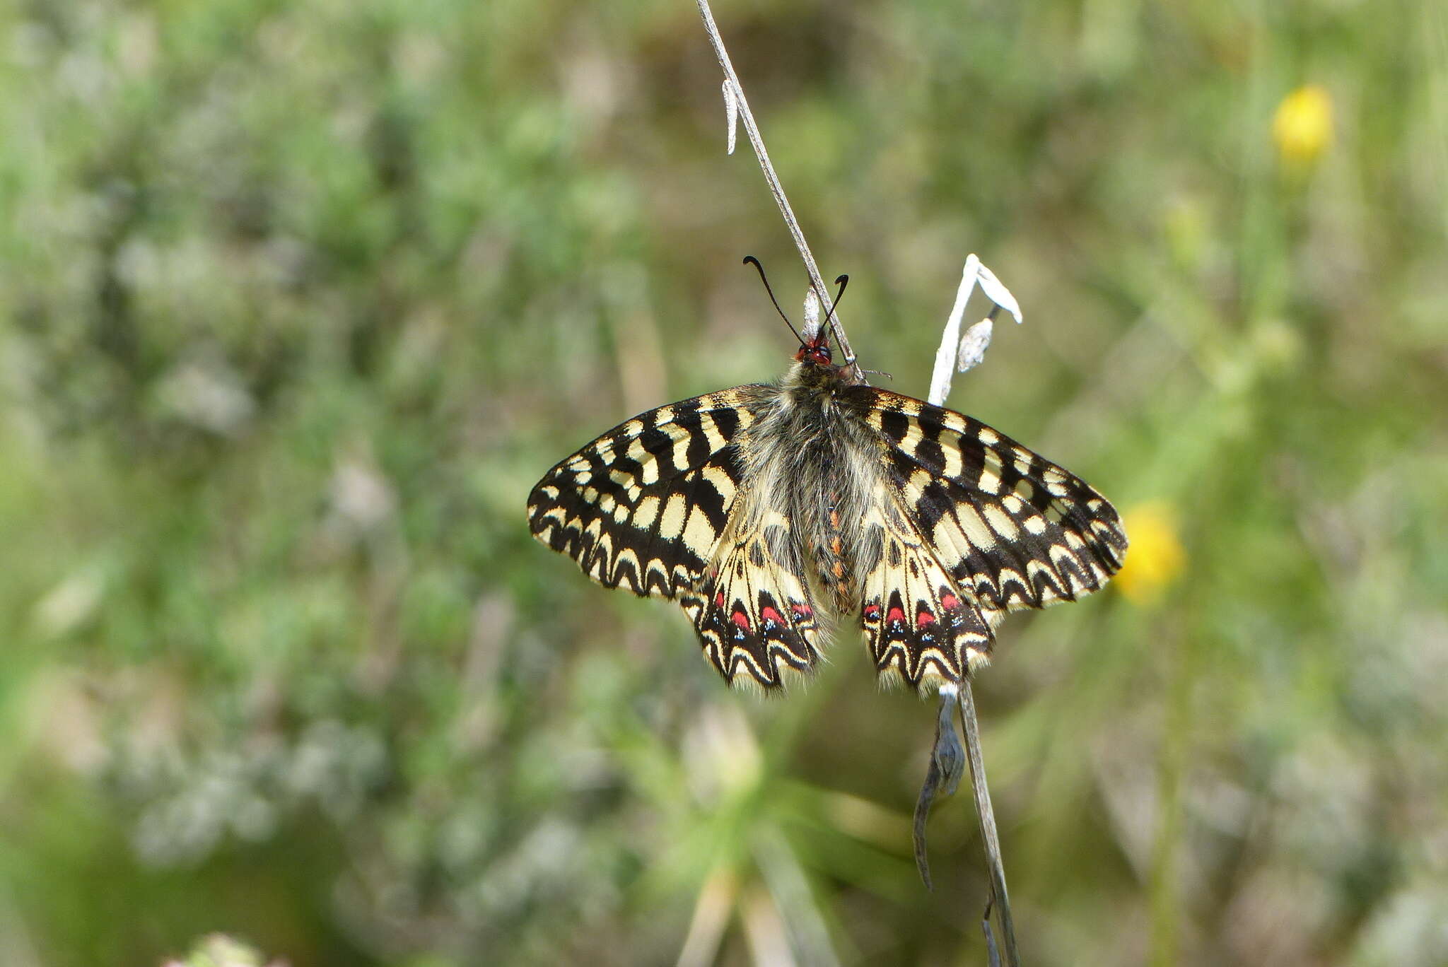
{"label": "butterfly's left forewing, black and cream, without red spots", "polygon": [[730,442],[752,421],[754,387],[650,410],[549,470],[529,528],[605,588],[678,598],[712,559],[738,494]]}

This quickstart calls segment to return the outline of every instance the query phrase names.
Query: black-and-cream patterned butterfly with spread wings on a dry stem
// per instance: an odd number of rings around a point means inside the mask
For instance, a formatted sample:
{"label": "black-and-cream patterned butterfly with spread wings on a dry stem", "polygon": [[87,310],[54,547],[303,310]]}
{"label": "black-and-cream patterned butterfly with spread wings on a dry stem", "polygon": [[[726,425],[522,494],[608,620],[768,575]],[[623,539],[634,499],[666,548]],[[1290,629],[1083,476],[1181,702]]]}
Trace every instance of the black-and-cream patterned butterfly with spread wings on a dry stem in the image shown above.
{"label": "black-and-cream patterned butterfly with spread wings on a dry stem", "polygon": [[724,679],[763,688],[846,622],[886,680],[959,683],[1006,612],[1121,567],[1121,520],[1080,478],[834,365],[827,326],[799,343],[778,382],[641,413],[565,457],[529,497],[533,536],[605,588],[676,601]]}

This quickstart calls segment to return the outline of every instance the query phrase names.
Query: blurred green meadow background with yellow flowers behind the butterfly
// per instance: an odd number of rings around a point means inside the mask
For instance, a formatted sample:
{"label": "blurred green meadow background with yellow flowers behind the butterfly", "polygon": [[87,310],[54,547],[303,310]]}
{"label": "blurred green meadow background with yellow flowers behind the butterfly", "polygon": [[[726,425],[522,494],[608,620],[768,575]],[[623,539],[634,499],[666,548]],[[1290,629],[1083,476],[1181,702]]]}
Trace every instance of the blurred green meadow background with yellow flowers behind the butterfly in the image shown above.
{"label": "blurred green meadow background with yellow flowers behind the butterfly", "polygon": [[[977,252],[1027,321],[951,405],[1128,515],[977,686],[1027,961],[1448,963],[1442,6],[715,14],[863,363],[924,395]],[[792,350],[692,3],[20,0],[0,61],[0,961],[985,963],[933,705],[850,634],[731,693],[527,534]]]}

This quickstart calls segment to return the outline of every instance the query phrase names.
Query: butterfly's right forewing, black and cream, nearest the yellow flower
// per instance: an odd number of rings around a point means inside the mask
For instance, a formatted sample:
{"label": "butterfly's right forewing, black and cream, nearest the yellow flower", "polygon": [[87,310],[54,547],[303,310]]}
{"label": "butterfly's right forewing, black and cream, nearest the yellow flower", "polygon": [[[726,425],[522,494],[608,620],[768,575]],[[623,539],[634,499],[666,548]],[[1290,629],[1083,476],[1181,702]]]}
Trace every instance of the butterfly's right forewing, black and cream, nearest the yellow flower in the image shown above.
{"label": "butterfly's right forewing, black and cream, nearest the yellow flower", "polygon": [[1080,478],[979,420],[872,389],[886,482],[941,566],[983,611],[1041,608],[1100,588],[1127,536]]}

